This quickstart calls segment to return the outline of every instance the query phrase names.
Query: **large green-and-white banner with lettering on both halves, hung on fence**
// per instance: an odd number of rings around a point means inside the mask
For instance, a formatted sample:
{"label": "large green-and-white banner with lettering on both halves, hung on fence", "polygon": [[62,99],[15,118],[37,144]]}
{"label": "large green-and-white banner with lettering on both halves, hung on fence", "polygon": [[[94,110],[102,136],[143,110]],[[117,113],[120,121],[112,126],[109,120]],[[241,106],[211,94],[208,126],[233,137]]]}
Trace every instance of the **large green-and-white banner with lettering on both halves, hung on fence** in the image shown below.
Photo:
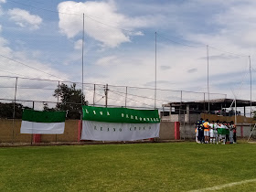
{"label": "large green-and-white banner with lettering on both halves, hung on fence", "polygon": [[81,140],[134,141],[159,136],[157,110],[82,106]]}

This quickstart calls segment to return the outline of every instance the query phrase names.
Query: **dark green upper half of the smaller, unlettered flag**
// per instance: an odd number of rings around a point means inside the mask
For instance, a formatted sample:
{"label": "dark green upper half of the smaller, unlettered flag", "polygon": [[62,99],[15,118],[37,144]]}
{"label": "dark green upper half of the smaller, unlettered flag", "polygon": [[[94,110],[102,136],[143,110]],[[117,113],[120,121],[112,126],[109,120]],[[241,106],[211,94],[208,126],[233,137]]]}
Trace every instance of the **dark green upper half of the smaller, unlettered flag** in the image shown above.
{"label": "dark green upper half of the smaller, unlettered flag", "polygon": [[66,112],[39,112],[24,110],[22,120],[37,123],[61,123],[65,122]]}

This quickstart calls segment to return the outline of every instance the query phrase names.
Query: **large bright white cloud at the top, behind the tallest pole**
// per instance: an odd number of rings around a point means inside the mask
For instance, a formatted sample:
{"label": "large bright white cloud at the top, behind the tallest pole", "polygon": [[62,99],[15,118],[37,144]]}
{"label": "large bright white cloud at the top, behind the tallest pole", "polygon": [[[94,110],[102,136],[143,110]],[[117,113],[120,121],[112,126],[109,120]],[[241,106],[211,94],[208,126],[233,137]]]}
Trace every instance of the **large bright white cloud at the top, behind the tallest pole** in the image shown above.
{"label": "large bright white cloud at the top, behind the tallest pole", "polygon": [[100,41],[103,46],[111,48],[130,42],[130,36],[144,35],[141,31],[125,32],[120,28],[133,31],[136,27],[148,27],[155,23],[155,19],[151,16],[150,18],[124,16],[118,13],[113,2],[67,1],[60,3],[58,10],[69,13],[69,15],[59,14],[60,31],[67,37],[76,37],[82,32],[82,13],[85,13],[85,32]]}

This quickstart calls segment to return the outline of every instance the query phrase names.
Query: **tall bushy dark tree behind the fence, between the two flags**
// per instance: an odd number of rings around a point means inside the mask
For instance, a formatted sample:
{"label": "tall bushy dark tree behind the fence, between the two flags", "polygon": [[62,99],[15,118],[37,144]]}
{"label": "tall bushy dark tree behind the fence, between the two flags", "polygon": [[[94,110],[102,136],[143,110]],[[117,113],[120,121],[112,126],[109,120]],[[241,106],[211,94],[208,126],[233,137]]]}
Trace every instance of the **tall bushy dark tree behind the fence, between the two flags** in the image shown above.
{"label": "tall bushy dark tree behind the fence, between the two flags", "polygon": [[81,90],[76,89],[76,84],[73,83],[70,87],[67,84],[61,83],[61,85],[54,91],[54,97],[59,97],[60,102],[56,105],[56,109],[59,111],[69,111],[69,119],[80,119],[81,114],[81,96],[82,104],[87,104],[84,95]]}

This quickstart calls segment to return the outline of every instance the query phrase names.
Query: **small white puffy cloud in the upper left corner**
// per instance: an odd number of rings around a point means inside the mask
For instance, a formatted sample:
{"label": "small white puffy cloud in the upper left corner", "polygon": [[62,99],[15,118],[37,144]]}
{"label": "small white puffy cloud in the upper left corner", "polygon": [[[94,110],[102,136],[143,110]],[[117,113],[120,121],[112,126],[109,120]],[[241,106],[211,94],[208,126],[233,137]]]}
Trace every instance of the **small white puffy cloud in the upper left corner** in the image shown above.
{"label": "small white puffy cloud in the upper left corner", "polygon": [[29,29],[38,29],[43,21],[40,16],[31,15],[28,11],[19,8],[9,9],[8,15],[17,26],[29,27]]}

